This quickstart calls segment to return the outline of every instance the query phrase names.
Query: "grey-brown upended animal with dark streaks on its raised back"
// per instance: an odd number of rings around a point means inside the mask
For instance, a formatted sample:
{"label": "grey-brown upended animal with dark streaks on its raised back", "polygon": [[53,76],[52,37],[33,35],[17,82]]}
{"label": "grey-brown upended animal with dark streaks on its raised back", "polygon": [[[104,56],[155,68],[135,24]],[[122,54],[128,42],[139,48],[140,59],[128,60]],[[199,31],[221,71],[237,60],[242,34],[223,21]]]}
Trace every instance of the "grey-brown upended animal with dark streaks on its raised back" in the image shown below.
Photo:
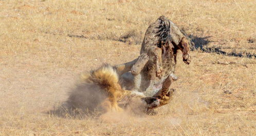
{"label": "grey-brown upended animal with dark streaks on its raised back", "polygon": [[145,97],[160,99],[159,106],[169,103],[174,93],[170,85],[177,80],[174,75],[177,50],[181,50],[183,61],[189,64],[189,40],[171,20],[160,16],[145,32],[140,56],[116,65],[126,81],[123,86],[142,92]]}

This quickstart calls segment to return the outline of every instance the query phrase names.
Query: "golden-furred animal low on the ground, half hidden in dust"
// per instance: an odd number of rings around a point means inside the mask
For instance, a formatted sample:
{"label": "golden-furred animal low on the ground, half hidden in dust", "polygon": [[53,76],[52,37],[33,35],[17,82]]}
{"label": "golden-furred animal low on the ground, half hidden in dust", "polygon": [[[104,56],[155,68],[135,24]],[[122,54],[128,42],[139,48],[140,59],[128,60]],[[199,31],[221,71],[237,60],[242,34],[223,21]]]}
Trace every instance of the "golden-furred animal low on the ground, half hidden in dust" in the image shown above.
{"label": "golden-furred animal low on the ground, half hidden in dust", "polygon": [[109,64],[103,64],[96,70],[83,73],[77,87],[67,100],[69,108],[122,112],[136,101],[143,105],[140,107],[141,111],[147,111],[160,104],[158,98],[144,97],[138,92],[122,88],[121,82],[117,69]]}

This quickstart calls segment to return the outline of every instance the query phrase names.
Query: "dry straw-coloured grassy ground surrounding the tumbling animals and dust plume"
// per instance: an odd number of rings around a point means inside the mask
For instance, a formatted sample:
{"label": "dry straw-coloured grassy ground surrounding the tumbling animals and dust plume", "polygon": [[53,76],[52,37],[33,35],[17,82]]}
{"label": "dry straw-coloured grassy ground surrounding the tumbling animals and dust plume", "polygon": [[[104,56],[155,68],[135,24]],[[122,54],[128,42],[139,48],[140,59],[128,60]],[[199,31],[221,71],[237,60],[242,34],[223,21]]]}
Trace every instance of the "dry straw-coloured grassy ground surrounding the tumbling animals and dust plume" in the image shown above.
{"label": "dry straw-coloured grassy ground surrounding the tumbling animals and dust plume", "polygon": [[[160,15],[196,50],[158,115],[46,114],[81,72],[135,59]],[[0,20],[0,135],[256,135],[254,0],[0,0]]]}

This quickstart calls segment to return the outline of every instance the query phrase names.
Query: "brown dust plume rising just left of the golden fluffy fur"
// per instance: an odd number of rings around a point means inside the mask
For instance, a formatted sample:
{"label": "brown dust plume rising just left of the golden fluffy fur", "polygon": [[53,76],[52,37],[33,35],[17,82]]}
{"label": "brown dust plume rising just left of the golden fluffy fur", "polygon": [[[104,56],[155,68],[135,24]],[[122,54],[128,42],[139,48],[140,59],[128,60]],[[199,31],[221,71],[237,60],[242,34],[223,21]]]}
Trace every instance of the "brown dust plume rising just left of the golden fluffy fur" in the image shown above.
{"label": "brown dust plume rising just left of the golden fluffy fur", "polygon": [[106,94],[95,83],[80,83],[68,93],[68,99],[49,114],[59,117],[77,117],[97,115],[103,109],[100,103],[106,99]]}

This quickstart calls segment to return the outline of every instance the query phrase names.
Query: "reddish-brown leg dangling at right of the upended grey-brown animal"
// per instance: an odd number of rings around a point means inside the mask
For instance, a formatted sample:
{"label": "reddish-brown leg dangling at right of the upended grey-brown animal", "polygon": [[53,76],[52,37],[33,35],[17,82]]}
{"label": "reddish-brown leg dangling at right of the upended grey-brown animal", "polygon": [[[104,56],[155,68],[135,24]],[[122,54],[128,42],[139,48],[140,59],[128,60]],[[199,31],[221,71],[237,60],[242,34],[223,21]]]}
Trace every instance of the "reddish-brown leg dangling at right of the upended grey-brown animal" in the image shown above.
{"label": "reddish-brown leg dangling at right of the upended grey-brown animal", "polygon": [[186,64],[190,64],[191,57],[189,55],[190,47],[189,47],[188,39],[186,37],[182,37],[178,46],[179,46],[180,50],[182,51],[183,61]]}

